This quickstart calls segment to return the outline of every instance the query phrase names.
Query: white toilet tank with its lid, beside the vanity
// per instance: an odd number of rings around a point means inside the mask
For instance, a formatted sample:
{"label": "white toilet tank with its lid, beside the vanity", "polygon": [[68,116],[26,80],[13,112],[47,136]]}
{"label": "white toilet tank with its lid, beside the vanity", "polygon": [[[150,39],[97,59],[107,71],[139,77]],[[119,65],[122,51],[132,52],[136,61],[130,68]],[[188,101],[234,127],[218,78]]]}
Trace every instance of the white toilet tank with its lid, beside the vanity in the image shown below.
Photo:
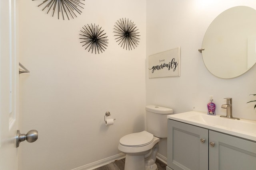
{"label": "white toilet tank with its lid, beside the vanity", "polygon": [[167,115],[173,113],[172,109],[160,106],[146,106],[147,131],[159,138],[167,137]]}

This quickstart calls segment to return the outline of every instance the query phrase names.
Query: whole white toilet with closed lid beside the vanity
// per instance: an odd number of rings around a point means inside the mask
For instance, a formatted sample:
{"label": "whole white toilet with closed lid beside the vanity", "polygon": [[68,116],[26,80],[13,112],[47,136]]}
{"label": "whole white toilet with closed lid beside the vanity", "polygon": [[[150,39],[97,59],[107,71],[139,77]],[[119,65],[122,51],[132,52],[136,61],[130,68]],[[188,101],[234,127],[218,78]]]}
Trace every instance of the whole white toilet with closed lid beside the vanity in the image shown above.
{"label": "whole white toilet with closed lid beside the vanity", "polygon": [[156,154],[160,138],[167,137],[167,115],[172,109],[146,106],[147,131],[131,133],[122,137],[118,149],[126,154],[124,170],[157,170]]}

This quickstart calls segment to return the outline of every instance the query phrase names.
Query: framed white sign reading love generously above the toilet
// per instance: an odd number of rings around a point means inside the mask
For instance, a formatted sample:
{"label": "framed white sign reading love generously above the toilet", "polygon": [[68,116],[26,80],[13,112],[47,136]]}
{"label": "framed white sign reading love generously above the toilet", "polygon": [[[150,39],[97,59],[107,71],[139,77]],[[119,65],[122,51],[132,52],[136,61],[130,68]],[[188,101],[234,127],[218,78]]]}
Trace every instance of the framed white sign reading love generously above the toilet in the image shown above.
{"label": "framed white sign reading love generously above the toilet", "polygon": [[150,55],[149,78],[180,76],[180,47]]}

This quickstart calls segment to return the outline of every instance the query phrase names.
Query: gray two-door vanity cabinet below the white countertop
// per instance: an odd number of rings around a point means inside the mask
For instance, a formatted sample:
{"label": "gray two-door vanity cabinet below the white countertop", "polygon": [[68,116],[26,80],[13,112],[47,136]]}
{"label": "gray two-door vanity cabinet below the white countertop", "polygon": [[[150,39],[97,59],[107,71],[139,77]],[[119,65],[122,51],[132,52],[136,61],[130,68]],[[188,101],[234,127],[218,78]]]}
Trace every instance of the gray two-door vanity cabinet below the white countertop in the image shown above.
{"label": "gray two-door vanity cabinet below the white countertop", "polygon": [[168,119],[166,170],[256,170],[256,143]]}

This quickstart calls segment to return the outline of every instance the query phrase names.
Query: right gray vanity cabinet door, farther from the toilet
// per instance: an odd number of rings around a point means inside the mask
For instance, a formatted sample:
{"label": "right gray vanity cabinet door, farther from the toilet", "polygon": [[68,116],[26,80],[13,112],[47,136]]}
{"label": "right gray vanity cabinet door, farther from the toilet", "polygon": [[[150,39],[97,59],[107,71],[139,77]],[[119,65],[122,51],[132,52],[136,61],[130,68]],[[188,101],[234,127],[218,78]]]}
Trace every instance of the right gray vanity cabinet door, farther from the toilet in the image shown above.
{"label": "right gray vanity cabinet door, farther from the toilet", "polygon": [[209,131],[209,170],[256,170],[256,143]]}

